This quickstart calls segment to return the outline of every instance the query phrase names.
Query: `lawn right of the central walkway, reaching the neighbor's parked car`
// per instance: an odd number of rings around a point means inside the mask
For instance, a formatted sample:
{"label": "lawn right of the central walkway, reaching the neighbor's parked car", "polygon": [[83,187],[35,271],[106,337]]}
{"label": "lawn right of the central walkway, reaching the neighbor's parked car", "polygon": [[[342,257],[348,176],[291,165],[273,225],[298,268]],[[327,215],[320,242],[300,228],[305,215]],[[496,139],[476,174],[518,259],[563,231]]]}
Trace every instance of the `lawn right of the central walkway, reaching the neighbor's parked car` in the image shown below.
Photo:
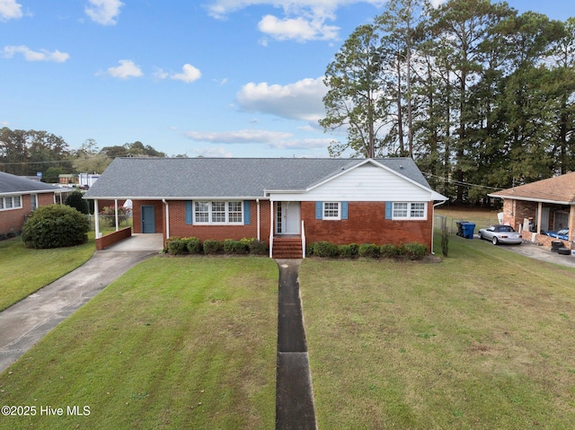
{"label": "lawn right of the central walkway, reaching the neighbor's parked car", "polygon": [[575,428],[575,270],[455,236],[449,255],[304,261],[320,428]]}

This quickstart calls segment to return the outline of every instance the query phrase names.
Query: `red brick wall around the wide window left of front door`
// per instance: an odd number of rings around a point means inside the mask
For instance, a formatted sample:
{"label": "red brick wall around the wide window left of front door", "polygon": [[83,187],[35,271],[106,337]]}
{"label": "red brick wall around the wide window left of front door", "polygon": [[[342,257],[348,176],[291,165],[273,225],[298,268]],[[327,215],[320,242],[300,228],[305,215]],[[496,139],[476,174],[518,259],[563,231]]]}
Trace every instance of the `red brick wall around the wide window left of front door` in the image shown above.
{"label": "red brick wall around the wide window left of front door", "polygon": [[[223,241],[225,239],[240,240],[244,237],[257,237],[258,215],[257,203],[250,205],[249,225],[197,225],[186,224],[186,206],[183,201],[171,201],[170,205],[170,235],[180,237],[197,237],[200,241],[206,239]],[[136,210],[134,211],[136,214]],[[136,225],[136,219],[134,220]],[[260,202],[260,234],[261,240],[270,240],[270,202]]]}

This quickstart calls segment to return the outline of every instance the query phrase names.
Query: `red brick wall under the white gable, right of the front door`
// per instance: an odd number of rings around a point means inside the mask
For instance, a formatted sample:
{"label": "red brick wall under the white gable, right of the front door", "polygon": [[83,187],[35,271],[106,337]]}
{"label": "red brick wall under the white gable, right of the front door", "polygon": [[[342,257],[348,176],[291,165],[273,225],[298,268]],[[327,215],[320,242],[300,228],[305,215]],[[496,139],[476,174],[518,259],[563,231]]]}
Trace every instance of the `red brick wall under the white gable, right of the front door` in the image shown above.
{"label": "red brick wall under the white gable, right of the front door", "polygon": [[432,206],[429,202],[427,220],[394,221],[385,219],[385,202],[349,202],[347,220],[323,221],[315,219],[315,202],[302,202],[305,240],[377,245],[418,242],[431,250]]}

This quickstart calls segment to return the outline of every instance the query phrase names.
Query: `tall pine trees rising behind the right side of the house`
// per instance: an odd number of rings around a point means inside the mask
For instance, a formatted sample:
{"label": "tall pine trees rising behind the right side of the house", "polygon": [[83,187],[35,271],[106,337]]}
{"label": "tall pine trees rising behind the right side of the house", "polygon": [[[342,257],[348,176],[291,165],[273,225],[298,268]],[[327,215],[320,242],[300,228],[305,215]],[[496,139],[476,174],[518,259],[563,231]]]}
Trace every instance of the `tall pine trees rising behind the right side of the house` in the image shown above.
{"label": "tall pine trees rising behind the right side of the house", "polygon": [[575,170],[575,18],[391,0],[324,83],[320,125],[347,134],[330,154],[412,157],[457,201]]}

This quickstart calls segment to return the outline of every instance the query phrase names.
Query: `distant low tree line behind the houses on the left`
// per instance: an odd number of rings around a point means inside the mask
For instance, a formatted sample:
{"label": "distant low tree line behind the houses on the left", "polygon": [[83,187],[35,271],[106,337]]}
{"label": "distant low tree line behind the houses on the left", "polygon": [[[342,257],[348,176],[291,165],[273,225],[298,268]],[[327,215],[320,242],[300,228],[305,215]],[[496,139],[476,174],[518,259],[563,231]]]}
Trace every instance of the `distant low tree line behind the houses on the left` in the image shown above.
{"label": "distant low tree line behind the houses on the left", "polygon": [[60,174],[102,173],[115,157],[165,157],[150,145],[139,141],[104,146],[86,139],[73,150],[61,136],[47,131],[0,129],[0,171],[19,176],[42,174],[42,180],[56,183]]}

